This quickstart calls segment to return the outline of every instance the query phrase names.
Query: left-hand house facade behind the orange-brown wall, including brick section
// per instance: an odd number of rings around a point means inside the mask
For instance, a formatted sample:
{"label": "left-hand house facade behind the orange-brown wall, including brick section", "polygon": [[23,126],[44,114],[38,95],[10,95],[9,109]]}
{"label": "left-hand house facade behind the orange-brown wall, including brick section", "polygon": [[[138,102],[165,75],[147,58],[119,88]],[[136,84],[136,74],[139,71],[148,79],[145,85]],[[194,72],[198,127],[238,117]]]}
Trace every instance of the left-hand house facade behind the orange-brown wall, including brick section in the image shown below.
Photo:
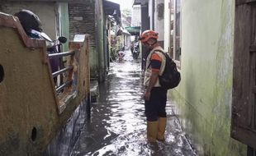
{"label": "left-hand house facade behind the orange-brown wall, including brick section", "polygon": [[[114,5],[112,7],[111,5]],[[92,80],[104,81],[109,68],[107,48],[107,16],[121,17],[119,4],[107,0],[8,0],[0,2],[0,11],[14,14],[27,9],[40,17],[42,28],[51,39],[65,36],[73,40],[75,34],[90,34],[90,75]],[[67,42],[68,43],[68,42]],[[64,44],[64,51],[69,44]]]}

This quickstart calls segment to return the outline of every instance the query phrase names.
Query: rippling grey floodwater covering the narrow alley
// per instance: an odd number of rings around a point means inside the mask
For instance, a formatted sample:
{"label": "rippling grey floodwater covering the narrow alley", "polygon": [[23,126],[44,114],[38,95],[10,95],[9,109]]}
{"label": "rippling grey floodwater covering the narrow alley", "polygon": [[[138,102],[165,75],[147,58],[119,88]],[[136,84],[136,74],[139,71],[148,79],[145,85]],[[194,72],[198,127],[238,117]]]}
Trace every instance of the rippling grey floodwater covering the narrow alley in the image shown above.
{"label": "rippling grey floodwater covering the narrow alley", "polygon": [[112,62],[97,103],[92,103],[91,120],[83,127],[72,156],[192,156],[175,107],[168,101],[165,141],[148,143],[144,113],[144,87],[140,58],[126,51],[125,60]]}

